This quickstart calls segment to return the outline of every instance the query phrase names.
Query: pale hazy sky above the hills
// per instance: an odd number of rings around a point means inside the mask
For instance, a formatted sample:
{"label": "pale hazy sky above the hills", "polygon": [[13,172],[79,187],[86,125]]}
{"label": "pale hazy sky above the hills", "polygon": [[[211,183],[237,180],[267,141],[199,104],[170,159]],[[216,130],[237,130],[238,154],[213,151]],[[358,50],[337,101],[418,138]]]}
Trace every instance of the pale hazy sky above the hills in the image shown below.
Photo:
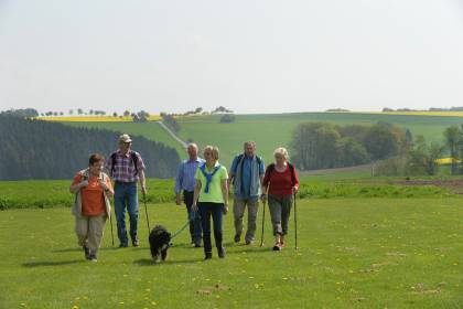
{"label": "pale hazy sky above the hills", "polygon": [[0,0],[0,110],[463,106],[463,0]]}

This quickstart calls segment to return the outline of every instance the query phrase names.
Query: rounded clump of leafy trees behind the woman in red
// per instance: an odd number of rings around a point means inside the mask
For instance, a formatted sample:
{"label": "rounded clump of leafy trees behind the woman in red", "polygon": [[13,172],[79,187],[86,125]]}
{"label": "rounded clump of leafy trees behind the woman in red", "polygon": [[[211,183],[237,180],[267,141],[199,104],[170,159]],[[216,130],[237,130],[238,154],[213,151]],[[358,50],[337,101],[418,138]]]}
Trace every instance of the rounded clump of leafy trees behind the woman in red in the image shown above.
{"label": "rounded clump of leafy trees behind the woman in red", "polygon": [[301,170],[352,167],[402,153],[406,131],[386,122],[335,126],[302,122],[292,136],[292,161]]}

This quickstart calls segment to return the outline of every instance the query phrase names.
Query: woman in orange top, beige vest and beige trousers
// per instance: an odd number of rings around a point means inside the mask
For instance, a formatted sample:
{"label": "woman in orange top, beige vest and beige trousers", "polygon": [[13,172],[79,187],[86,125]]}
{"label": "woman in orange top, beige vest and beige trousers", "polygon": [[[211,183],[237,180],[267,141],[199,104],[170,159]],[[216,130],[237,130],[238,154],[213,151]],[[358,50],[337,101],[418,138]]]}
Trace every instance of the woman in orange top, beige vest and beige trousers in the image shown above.
{"label": "woman in orange top, beige vest and beige trousers", "polygon": [[76,194],[73,214],[76,217],[76,235],[85,258],[97,262],[97,251],[101,244],[105,223],[111,214],[109,198],[114,195],[111,180],[103,172],[105,157],[94,153],[88,168],[77,172],[71,184],[71,193]]}

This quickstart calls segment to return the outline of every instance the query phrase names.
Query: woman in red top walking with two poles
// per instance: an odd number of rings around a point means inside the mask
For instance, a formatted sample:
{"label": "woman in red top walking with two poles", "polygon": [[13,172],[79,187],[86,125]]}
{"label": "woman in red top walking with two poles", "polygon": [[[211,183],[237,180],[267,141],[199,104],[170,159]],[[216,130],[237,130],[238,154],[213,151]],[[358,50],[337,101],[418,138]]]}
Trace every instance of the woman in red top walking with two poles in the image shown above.
{"label": "woman in red top walking with two poles", "polygon": [[267,167],[262,182],[262,198],[268,191],[271,223],[273,225],[273,251],[280,251],[288,234],[288,222],[293,202],[293,194],[299,189],[298,174],[288,162],[287,149],[280,147],[273,152],[274,163]]}

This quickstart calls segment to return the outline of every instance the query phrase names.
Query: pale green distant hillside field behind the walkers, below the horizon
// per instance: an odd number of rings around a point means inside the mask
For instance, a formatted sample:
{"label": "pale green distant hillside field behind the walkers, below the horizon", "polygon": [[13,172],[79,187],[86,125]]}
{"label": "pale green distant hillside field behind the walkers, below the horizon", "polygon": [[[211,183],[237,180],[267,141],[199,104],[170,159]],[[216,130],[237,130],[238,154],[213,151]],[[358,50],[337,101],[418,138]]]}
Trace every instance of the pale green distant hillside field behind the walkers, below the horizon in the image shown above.
{"label": "pale green distant hillside field behind the walkers, below the horizon", "polygon": [[[235,154],[243,151],[243,142],[255,140],[259,154],[266,162],[272,159],[273,150],[289,147],[294,128],[303,121],[326,121],[334,125],[373,125],[378,121],[395,124],[423,135],[429,141],[443,141],[443,131],[452,125],[460,126],[462,117],[422,116],[422,115],[386,115],[358,113],[295,113],[278,115],[236,115],[235,122],[219,124],[220,115],[180,117],[183,140],[193,139],[200,146],[217,145],[220,149],[220,161],[230,166]],[[181,158],[185,157],[183,148],[169,136],[157,122],[64,122],[69,126],[93,127],[144,136],[151,140],[174,147]],[[116,147],[116,146],[115,146]]]}

